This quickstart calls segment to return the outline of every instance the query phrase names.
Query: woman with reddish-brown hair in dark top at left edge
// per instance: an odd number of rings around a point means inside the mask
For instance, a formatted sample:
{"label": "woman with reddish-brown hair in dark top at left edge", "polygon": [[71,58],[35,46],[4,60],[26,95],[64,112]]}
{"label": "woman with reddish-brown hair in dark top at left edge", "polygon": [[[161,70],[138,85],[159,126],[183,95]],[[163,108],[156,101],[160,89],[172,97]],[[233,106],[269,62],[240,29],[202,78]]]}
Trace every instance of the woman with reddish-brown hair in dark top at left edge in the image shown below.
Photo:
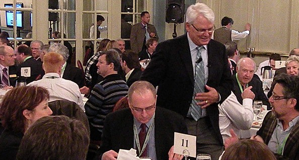
{"label": "woman with reddish-brown hair in dark top at left edge", "polygon": [[36,86],[16,87],[6,93],[0,105],[5,128],[0,136],[0,159],[16,159],[27,129],[36,120],[52,114],[48,99],[48,91]]}

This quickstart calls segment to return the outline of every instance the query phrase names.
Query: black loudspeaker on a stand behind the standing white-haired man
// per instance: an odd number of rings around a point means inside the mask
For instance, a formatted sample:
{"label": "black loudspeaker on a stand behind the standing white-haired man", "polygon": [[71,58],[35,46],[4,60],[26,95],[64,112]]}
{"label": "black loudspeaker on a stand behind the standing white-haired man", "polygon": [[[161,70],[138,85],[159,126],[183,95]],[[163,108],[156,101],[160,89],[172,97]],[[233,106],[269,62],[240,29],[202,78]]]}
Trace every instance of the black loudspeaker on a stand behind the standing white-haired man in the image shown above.
{"label": "black loudspeaker on a stand behind the standing white-haired man", "polygon": [[166,0],[166,22],[183,23],[185,0]]}

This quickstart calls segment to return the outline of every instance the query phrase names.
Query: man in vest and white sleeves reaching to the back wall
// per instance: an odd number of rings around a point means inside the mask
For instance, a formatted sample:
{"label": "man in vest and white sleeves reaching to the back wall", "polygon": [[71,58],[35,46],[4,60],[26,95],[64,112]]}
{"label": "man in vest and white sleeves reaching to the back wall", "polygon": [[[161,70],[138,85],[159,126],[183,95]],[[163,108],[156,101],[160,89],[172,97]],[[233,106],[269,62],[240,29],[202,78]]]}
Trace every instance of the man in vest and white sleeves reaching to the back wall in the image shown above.
{"label": "man in vest and white sleeves reaching to the back wall", "polygon": [[229,17],[223,17],[221,20],[221,27],[214,31],[214,40],[219,41],[223,44],[230,41],[240,40],[249,35],[250,24],[247,23],[243,32],[232,30],[234,20]]}

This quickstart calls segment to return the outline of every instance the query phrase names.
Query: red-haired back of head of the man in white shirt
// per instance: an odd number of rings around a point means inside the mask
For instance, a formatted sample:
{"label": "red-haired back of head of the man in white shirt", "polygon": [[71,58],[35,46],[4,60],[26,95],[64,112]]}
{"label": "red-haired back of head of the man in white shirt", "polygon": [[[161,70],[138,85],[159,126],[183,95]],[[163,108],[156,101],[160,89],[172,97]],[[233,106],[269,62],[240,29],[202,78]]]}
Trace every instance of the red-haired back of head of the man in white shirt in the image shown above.
{"label": "red-haired back of head of the man in white shirt", "polygon": [[45,72],[57,72],[63,64],[63,57],[61,54],[49,52],[44,55],[43,66]]}

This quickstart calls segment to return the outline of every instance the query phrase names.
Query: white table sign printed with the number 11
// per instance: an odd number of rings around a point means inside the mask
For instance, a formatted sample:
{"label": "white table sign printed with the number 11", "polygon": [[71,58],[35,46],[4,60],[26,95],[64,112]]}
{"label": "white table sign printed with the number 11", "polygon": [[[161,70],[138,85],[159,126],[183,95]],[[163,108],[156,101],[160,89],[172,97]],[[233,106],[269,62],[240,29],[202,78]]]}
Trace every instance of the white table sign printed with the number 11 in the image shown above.
{"label": "white table sign printed with the number 11", "polygon": [[196,136],[175,132],[174,152],[185,156],[196,157]]}

